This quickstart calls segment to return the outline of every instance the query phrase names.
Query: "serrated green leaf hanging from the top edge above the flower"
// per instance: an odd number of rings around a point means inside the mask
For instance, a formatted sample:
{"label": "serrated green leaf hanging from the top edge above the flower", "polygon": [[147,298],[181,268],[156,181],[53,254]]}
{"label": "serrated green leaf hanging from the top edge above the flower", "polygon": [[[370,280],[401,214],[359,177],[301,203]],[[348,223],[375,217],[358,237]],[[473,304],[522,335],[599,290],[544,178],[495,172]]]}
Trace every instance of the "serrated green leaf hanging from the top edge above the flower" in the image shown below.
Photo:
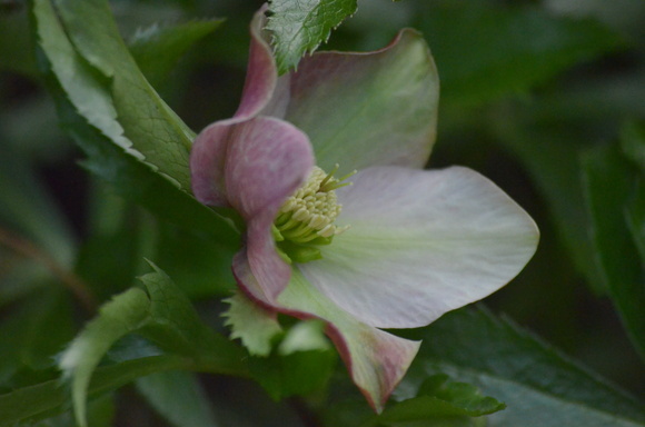
{"label": "serrated green leaf hanging from the top edge above the flower", "polygon": [[297,67],[302,54],[327,41],[331,29],[356,8],[356,0],[270,0],[267,29],[272,32],[278,72]]}

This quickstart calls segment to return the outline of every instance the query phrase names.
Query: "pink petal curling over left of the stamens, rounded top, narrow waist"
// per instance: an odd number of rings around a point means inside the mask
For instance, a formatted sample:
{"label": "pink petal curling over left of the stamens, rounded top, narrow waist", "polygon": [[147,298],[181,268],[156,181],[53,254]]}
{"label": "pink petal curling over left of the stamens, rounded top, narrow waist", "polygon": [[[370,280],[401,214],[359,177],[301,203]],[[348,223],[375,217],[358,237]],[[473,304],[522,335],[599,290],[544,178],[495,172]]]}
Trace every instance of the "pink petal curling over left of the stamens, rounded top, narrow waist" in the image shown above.
{"label": "pink petal curling over left of the stamens, rounded top, narrow waist", "polygon": [[[284,201],[314,167],[311,145],[292,125],[261,116],[231,125],[228,139],[227,200],[247,222],[246,245],[235,257],[234,271],[248,265],[257,284],[247,291],[272,304],[289,281],[290,267],[278,256],[271,226]],[[246,282],[242,272],[236,275]]]}

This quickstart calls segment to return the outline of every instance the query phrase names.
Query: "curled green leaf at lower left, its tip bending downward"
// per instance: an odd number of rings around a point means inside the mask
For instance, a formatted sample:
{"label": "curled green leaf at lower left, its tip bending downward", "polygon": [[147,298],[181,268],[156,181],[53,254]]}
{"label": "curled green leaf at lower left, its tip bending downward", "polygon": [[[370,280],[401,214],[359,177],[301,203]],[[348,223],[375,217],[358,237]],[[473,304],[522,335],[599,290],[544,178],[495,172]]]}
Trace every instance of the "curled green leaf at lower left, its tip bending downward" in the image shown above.
{"label": "curled green leaf at lower left, its tip bending downward", "polygon": [[166,274],[141,277],[145,290],[131,288],[100,309],[97,318],[72,341],[60,360],[70,379],[78,423],[86,426],[86,399],[90,378],[108,349],[121,337],[137,332],[162,350],[192,359],[205,369],[240,374],[244,352],[204,325],[190,301]]}

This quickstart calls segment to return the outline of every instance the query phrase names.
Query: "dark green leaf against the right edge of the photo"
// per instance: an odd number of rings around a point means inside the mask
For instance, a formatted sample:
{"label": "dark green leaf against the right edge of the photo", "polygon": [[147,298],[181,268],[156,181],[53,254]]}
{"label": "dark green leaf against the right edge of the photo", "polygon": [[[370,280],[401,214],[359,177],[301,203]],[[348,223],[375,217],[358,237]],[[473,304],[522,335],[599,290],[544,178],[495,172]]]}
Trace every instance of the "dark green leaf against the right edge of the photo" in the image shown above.
{"label": "dark green leaf against the right edge of the photo", "polygon": [[631,226],[645,203],[642,173],[618,147],[585,152],[582,165],[595,260],[632,341],[645,358],[645,270],[632,236],[634,226],[642,235],[644,225]]}

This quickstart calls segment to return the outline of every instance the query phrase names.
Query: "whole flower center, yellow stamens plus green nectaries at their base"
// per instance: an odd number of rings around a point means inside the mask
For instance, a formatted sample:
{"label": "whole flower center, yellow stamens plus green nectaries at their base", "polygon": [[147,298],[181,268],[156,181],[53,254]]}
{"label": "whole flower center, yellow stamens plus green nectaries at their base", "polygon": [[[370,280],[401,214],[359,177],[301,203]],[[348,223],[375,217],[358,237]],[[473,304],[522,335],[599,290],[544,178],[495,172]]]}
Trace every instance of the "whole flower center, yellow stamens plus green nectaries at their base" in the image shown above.
{"label": "whole flower center, yellow stamens plus green nectaries at their base", "polygon": [[336,178],[337,170],[338,165],[329,173],[315,166],[305,185],[280,208],[272,232],[278,252],[287,262],[320,259],[317,246],[329,245],[334,236],[349,228],[334,225],[341,210],[335,190],[350,185],[343,181],[356,171]]}

